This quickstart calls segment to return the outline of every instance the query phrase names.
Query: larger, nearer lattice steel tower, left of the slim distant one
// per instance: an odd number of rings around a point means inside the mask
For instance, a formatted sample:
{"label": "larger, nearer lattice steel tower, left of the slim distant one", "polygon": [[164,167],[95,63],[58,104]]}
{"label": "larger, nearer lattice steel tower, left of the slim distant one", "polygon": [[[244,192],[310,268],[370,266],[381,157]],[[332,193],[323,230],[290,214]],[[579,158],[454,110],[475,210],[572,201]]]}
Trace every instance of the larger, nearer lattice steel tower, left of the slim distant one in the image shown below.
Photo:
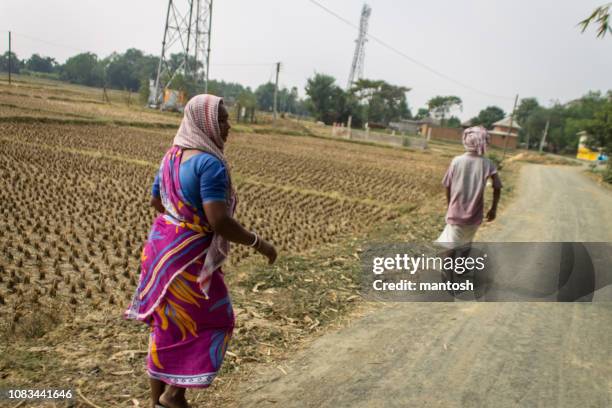
{"label": "larger, nearer lattice steel tower, left of the slim distant one", "polygon": [[[177,74],[208,91],[213,0],[168,0],[161,58],[150,104],[161,103],[163,90]],[[180,61],[172,54],[182,56]]]}

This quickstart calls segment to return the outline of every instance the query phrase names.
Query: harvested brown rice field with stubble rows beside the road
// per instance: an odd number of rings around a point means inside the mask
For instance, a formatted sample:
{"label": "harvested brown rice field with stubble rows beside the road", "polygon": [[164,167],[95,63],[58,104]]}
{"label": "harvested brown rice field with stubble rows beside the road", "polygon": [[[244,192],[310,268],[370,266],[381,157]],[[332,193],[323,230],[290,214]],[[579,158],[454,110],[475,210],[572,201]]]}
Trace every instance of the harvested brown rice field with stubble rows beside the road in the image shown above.
{"label": "harvested brown rice field with stubble rows beside the road", "polygon": [[[122,312],[154,217],[151,183],[179,117],[124,95],[103,104],[99,92],[0,81],[0,388],[68,387],[101,407],[145,406],[147,329]],[[300,344],[359,309],[367,242],[432,238],[456,149],[236,126],[227,156],[237,218],[280,258],[267,266],[234,247],[225,272],[237,327],[222,374],[190,394],[195,406],[231,405],[233,387],[258,365],[282,370]],[[72,406],[90,405],[78,396]]]}

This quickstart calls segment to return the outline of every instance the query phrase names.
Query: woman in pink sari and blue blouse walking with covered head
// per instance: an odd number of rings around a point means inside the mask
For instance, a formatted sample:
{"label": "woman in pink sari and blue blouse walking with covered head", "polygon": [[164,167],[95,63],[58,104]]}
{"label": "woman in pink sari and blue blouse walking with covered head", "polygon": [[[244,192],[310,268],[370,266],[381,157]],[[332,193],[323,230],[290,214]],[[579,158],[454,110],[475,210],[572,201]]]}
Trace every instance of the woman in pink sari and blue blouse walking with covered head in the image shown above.
{"label": "woman in pink sari and blue blouse walking with covered head", "polygon": [[253,247],[269,263],[276,259],[270,243],[233,218],[237,199],[223,154],[228,116],[221,98],[192,98],[153,183],[159,215],[125,313],[151,328],[153,407],[188,407],[185,389],[208,387],[219,372],[234,328],[221,270],[229,242]]}

